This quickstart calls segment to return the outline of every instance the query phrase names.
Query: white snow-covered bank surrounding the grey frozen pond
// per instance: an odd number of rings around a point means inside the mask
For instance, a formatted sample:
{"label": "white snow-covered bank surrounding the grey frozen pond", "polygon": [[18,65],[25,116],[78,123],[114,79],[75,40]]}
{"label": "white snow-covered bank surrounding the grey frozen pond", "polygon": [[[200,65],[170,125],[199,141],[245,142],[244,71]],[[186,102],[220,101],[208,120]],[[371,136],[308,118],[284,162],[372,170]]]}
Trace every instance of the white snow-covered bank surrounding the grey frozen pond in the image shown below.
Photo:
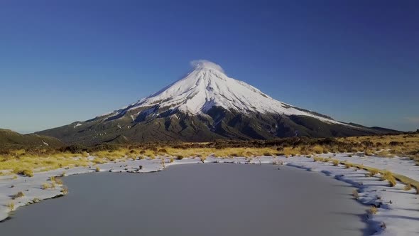
{"label": "white snow-covered bank surrounding the grey frozen pond", "polygon": [[[322,156],[332,156],[333,154],[324,154]],[[412,161],[401,158],[383,158],[383,157],[348,157],[347,154],[333,155],[333,159],[349,161],[352,163],[364,164],[381,169],[388,169],[393,173],[402,174],[419,180],[419,167],[415,166]],[[345,168],[345,166],[333,166],[332,163],[315,162],[312,158],[305,156],[295,156],[286,158],[285,156],[259,156],[252,159],[236,157],[233,159],[220,159],[212,156],[207,157],[205,163],[248,163],[248,164],[272,164],[277,163],[278,168],[281,163],[288,166],[303,168],[308,171],[316,171],[327,176],[332,176],[340,181],[352,184],[355,188],[359,188],[359,202],[366,205],[376,205],[378,213],[376,215],[365,214],[367,220],[376,229],[374,235],[417,235],[419,232],[419,210],[418,195],[415,190],[404,191],[405,185],[397,183],[396,186],[390,187],[387,181],[380,181],[379,177],[369,177],[368,172],[358,170],[357,168]],[[0,176],[0,220],[8,218],[9,208],[7,204],[15,203],[15,208],[33,202],[34,198],[40,200],[53,198],[60,195],[61,187],[55,189],[43,190],[42,184],[47,182],[50,176],[60,176],[65,171],[66,175],[95,172],[99,167],[100,171],[109,172],[130,172],[130,173],[149,173],[154,171],[162,171],[163,168],[186,163],[202,163],[200,158],[185,158],[175,160],[170,163],[169,159],[165,159],[165,164],[160,159],[142,159],[135,161],[123,161],[104,163],[91,167],[77,167],[70,169],[58,169],[43,173],[35,173],[32,178],[18,176]],[[141,166],[141,168],[140,168]],[[309,181],[309,180],[308,180]],[[11,188],[13,186],[13,188]],[[11,195],[24,193],[21,198],[11,199]],[[71,190],[70,190],[71,191]]]}

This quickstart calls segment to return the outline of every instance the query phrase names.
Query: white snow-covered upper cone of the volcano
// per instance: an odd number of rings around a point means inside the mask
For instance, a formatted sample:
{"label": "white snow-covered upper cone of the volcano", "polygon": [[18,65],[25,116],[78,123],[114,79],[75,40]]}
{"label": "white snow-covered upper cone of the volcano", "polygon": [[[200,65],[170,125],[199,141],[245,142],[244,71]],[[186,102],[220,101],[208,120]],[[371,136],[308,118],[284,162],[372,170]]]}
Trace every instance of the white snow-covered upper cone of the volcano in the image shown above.
{"label": "white snow-covered upper cone of the volcano", "polygon": [[217,106],[242,113],[303,115],[315,117],[324,122],[343,124],[274,100],[256,87],[228,77],[221,66],[208,60],[196,60],[192,62],[192,65],[194,70],[183,79],[128,107],[115,111],[114,114],[121,114],[121,112],[139,107],[156,106],[173,112],[178,110],[188,114],[200,114]]}

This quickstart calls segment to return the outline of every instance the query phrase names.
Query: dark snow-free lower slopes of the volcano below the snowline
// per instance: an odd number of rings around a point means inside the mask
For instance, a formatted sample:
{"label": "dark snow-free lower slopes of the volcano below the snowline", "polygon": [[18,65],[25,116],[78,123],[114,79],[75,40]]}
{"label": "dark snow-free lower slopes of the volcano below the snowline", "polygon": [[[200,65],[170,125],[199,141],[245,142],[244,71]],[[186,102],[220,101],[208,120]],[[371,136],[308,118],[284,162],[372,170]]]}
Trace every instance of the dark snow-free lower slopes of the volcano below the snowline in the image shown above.
{"label": "dark snow-free lower slopes of the volcano below the snowline", "polygon": [[183,112],[145,116],[140,121],[97,117],[48,129],[37,134],[54,136],[67,144],[102,142],[130,143],[141,141],[213,141],[214,139],[273,139],[289,136],[362,136],[397,134],[391,129],[368,128],[360,125],[330,124],[313,117],[278,114],[241,114],[220,107],[207,114]]}

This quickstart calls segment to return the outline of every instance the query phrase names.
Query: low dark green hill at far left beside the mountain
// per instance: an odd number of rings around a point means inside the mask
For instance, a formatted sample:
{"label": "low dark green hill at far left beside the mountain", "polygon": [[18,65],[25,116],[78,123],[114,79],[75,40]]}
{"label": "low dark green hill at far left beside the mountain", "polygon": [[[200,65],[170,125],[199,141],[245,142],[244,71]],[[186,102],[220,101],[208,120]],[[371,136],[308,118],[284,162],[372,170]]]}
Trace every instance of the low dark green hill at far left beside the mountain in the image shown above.
{"label": "low dark green hill at far left beside the mountain", "polygon": [[0,129],[0,149],[57,148],[64,144],[59,139],[38,134],[19,134]]}

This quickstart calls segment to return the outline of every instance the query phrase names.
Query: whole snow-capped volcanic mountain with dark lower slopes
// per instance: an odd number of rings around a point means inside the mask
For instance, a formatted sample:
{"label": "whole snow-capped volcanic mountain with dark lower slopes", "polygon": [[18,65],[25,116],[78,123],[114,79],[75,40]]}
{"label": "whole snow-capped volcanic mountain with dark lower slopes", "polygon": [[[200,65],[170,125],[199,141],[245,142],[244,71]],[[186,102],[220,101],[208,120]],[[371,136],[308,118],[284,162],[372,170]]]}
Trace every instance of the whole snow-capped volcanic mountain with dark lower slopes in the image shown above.
{"label": "whole snow-capped volcanic mountain with dark lower slopes", "polygon": [[53,136],[67,144],[97,144],[394,132],[337,122],[274,100],[255,87],[228,77],[215,63],[197,60],[192,64],[193,70],[183,79],[127,107],[36,134]]}

